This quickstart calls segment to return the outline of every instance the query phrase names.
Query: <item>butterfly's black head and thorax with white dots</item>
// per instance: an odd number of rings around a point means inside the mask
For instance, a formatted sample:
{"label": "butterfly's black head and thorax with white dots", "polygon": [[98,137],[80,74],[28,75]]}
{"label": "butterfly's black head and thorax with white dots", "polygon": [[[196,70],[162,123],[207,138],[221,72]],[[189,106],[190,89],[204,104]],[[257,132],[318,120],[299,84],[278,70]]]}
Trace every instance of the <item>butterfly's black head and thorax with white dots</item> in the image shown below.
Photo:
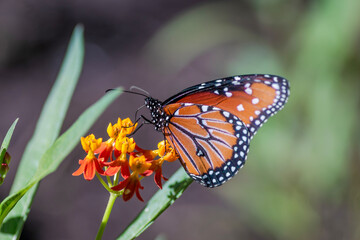
{"label": "butterfly's black head and thorax with white dots", "polygon": [[170,116],[165,113],[162,102],[147,97],[145,98],[145,106],[150,110],[151,123],[155,126],[155,130],[163,132],[164,127],[168,126]]}

